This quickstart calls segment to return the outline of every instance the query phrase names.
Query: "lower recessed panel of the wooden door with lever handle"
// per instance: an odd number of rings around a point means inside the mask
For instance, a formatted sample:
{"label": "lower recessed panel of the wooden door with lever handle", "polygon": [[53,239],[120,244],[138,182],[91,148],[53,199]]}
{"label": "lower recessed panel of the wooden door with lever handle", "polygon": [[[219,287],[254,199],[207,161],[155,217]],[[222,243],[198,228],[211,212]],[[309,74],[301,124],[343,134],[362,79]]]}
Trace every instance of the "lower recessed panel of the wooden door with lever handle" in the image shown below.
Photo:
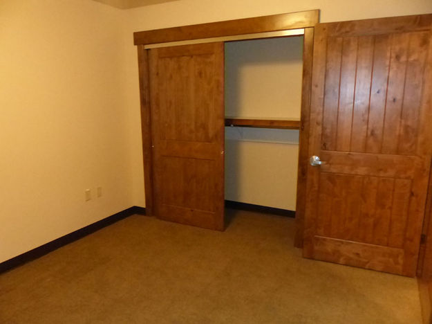
{"label": "lower recessed panel of the wooden door with lever handle", "polygon": [[403,248],[411,180],[321,172],[319,188],[317,235]]}

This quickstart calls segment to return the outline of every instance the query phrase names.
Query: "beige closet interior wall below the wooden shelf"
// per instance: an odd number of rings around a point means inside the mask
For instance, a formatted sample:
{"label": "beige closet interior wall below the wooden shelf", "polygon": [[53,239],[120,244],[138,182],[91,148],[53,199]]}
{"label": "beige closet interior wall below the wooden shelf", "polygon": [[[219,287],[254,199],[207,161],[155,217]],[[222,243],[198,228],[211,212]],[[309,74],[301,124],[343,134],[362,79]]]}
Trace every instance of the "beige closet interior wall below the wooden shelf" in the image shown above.
{"label": "beige closet interior wall below the wooden shelf", "polygon": [[225,129],[225,199],[295,210],[299,132]]}

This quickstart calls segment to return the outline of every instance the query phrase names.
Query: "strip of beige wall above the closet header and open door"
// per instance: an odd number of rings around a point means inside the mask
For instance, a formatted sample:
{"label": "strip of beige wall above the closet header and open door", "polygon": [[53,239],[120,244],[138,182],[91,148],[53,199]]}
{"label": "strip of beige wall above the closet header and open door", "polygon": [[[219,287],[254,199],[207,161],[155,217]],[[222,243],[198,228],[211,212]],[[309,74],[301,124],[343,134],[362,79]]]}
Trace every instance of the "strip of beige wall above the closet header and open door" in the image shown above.
{"label": "strip of beige wall above the closet header and open door", "polygon": [[321,22],[431,13],[430,0],[180,0],[129,11],[131,30],[200,24],[301,10],[321,10]]}

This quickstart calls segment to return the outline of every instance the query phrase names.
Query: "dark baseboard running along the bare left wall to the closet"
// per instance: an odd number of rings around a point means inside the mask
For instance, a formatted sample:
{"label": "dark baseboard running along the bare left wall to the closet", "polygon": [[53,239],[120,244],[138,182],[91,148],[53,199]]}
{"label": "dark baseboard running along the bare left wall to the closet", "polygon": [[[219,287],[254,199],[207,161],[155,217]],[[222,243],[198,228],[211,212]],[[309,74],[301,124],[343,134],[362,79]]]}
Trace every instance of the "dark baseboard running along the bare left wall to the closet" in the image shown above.
{"label": "dark baseboard running along the bare left wall to the closet", "polygon": [[79,240],[80,238],[89,235],[91,233],[94,233],[95,231],[98,231],[101,228],[114,224],[115,222],[118,222],[121,219],[124,219],[126,217],[135,214],[146,215],[146,210],[143,207],[133,206],[131,208],[122,210],[120,213],[116,213],[114,215],[101,219],[98,222],[95,222],[83,228],[79,228],[79,230],[77,231],[66,234],[62,237],[59,237],[56,240],[38,246],[37,248],[22,253],[20,255],[17,255],[15,258],[1,262],[0,273],[6,272],[10,269],[20,266],[21,264],[40,258],[41,256],[46,255],[56,249],[59,249],[60,247],[66,244]]}

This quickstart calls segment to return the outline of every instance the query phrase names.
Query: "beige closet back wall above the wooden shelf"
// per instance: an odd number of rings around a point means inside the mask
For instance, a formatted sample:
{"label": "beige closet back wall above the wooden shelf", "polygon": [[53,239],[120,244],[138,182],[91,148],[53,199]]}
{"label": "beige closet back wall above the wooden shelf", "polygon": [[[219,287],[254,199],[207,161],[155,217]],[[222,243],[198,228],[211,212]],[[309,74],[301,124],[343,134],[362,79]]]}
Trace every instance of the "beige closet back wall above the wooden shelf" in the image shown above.
{"label": "beige closet back wall above the wooden shelf", "polygon": [[303,36],[225,44],[225,115],[300,118]]}

